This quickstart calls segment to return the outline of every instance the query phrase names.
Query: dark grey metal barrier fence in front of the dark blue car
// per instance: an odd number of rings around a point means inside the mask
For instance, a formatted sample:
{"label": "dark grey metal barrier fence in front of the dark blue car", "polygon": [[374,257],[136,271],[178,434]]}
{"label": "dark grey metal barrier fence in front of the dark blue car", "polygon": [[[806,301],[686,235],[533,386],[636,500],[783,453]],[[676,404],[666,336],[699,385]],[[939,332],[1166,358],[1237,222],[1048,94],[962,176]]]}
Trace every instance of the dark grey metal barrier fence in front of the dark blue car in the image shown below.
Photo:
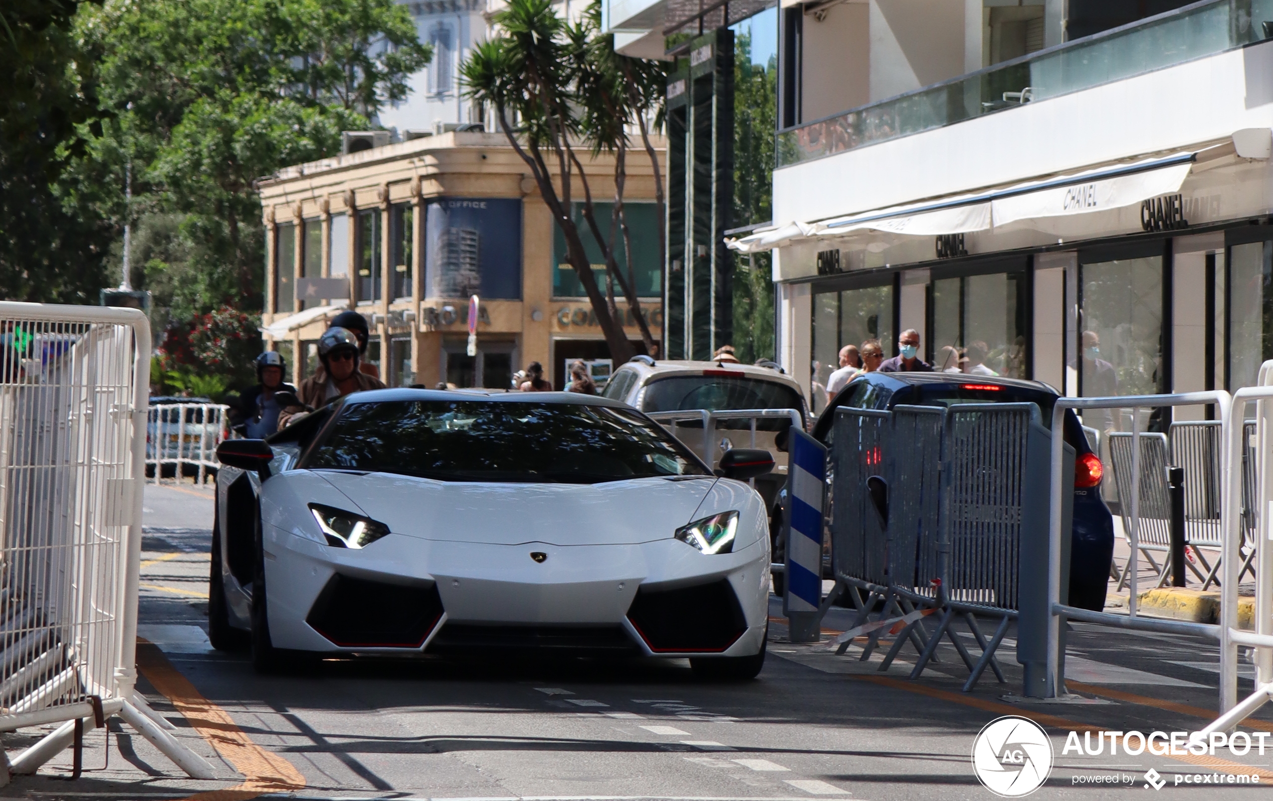
{"label": "dark grey metal barrier fence in front of the dark blue car", "polygon": [[[1017,661],[1026,694],[1044,694],[1049,435],[1039,414],[1032,403],[836,409],[831,598],[848,594],[858,612],[838,654],[864,636],[866,660],[894,626],[880,670],[909,643],[918,678],[945,638],[969,671],[967,692],[987,668],[1004,681],[995,651],[1009,622],[1030,615]],[[931,615],[932,631],[923,622]],[[978,617],[997,619],[989,638]],[[956,618],[981,651],[975,660],[951,628]]]}

